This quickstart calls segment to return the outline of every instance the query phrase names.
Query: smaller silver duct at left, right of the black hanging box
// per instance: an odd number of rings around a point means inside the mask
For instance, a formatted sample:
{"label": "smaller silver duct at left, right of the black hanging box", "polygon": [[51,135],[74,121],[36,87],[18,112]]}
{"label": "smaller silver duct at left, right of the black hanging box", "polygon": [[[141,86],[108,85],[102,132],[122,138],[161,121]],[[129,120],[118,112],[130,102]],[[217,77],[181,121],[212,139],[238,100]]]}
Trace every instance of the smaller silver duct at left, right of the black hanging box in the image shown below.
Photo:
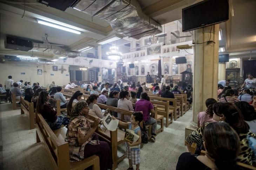
{"label": "smaller silver duct at left, right of the black hanging box", "polygon": [[76,58],[81,56],[80,52],[66,51],[65,49],[59,46],[45,45],[42,43],[34,43],[34,42],[33,42],[33,48],[31,49],[31,51],[53,53],[54,56],[56,57]]}

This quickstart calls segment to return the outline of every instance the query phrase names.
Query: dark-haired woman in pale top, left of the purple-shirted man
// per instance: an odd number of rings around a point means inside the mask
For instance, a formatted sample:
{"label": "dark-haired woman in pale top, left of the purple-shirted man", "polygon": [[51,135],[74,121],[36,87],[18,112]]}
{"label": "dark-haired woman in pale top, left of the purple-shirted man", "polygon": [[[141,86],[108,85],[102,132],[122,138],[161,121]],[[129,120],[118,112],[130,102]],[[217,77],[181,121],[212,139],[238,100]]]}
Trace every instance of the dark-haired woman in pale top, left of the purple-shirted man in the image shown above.
{"label": "dark-haired woman in pale top, left of the purple-shirted man", "polygon": [[[117,108],[134,111],[133,104],[131,101],[129,101],[128,91],[121,91],[119,94],[119,98],[120,99],[117,102]],[[117,117],[121,119],[121,113],[117,113]],[[131,118],[130,116],[124,115],[124,120],[129,121],[130,118]]]}

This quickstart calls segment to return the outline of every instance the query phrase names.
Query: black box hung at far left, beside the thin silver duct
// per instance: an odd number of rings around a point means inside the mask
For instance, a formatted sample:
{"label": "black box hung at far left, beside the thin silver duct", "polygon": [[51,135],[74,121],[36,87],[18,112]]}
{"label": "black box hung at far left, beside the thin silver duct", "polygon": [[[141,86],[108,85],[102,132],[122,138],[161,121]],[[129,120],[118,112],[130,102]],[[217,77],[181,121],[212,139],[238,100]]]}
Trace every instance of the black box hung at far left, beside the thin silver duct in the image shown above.
{"label": "black box hung at far left, beside the thin silver duct", "polygon": [[28,51],[33,48],[33,42],[31,40],[20,39],[15,37],[5,37],[5,48]]}

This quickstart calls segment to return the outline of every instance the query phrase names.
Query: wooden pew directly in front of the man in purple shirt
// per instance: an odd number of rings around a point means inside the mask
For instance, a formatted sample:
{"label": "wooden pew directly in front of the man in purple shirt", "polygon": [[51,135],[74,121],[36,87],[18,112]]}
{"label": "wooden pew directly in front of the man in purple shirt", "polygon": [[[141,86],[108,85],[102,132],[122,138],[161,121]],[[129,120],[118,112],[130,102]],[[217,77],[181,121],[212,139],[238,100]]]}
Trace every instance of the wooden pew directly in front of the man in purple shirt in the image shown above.
{"label": "wooden pew directly in front of the man in purple shirt", "polygon": [[[155,101],[155,100],[150,100],[150,102],[153,105],[157,106],[157,112],[158,114],[162,115],[163,117],[166,118],[166,123],[165,127],[168,127],[169,124],[173,123],[173,110],[169,108],[169,102],[163,102],[163,101]],[[171,114],[169,116],[169,114]],[[170,120],[169,120],[170,118]]]}

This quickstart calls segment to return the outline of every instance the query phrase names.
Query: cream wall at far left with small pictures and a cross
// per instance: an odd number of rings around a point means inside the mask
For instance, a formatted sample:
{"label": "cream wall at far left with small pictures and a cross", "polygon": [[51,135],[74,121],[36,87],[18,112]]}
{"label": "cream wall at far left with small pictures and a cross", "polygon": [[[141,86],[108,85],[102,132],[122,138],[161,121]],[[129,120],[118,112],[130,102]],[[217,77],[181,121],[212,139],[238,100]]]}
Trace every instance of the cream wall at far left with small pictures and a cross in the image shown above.
{"label": "cream wall at far left with small pictures and a cross", "polygon": [[[58,65],[61,68],[62,65]],[[35,63],[28,62],[12,62],[7,61],[6,63],[0,63],[0,83],[5,84],[8,76],[11,75],[13,80],[20,81],[23,80],[31,82],[39,82],[40,86],[48,87],[52,81],[55,81],[56,85],[63,86],[69,82],[69,69],[68,65],[63,65],[66,71],[61,74],[61,71],[53,71],[53,65],[39,65]],[[42,69],[42,75],[37,74],[37,70]],[[25,74],[21,74],[25,73]],[[50,75],[54,74],[54,75]]]}

